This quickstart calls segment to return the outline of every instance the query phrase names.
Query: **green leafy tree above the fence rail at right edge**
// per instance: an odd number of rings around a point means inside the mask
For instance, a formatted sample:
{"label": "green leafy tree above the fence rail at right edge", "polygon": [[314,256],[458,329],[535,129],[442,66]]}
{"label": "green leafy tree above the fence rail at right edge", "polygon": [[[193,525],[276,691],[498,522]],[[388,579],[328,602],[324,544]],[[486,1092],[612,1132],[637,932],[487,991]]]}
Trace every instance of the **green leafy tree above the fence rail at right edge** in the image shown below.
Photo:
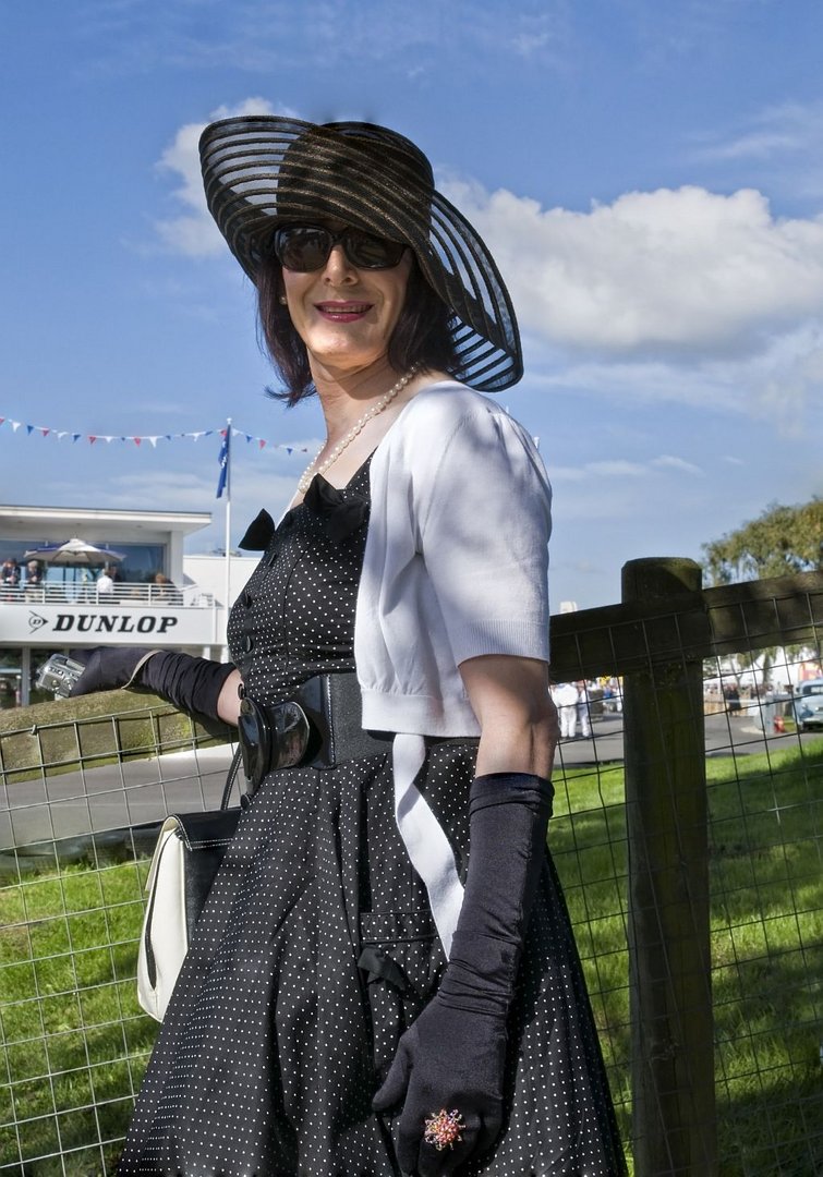
{"label": "green leafy tree above the fence rail at right edge", "polygon": [[757,519],[702,546],[712,584],[823,568],[823,498],[794,507],[772,503]]}

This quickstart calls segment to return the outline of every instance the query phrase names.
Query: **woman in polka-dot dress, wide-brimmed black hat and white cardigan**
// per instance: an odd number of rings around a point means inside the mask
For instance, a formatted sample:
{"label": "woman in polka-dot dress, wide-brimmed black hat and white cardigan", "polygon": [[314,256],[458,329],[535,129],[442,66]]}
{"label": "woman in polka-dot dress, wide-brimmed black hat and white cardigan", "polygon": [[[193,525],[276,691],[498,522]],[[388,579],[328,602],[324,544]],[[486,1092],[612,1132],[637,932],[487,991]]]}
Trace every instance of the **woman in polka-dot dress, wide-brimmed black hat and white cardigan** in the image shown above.
{"label": "woman in polka-dot dress, wide-brimmed black hat and white cardigan", "polygon": [[[386,128],[230,119],[201,159],[287,399],[317,392],[327,437],[245,537],[233,665],[95,651],[80,680],[243,707],[257,785],[120,1171],[622,1173],[545,853],[549,486],[472,391],[522,373],[505,286]],[[250,711],[290,700],[307,745],[260,765]]]}

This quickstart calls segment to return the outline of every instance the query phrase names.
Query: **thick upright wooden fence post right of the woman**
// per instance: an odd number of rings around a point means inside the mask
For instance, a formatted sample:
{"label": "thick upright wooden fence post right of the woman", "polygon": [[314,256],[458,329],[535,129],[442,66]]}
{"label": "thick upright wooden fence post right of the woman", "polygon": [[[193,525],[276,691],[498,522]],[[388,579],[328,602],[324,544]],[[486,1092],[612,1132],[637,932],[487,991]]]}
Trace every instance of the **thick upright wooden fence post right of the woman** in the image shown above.
{"label": "thick upright wooden fence post right of the woman", "polygon": [[[686,559],[630,560],[624,603],[701,588]],[[636,1177],[717,1172],[703,667],[677,653],[624,678]],[[648,641],[645,632],[638,640]],[[664,649],[666,644],[664,643]]]}

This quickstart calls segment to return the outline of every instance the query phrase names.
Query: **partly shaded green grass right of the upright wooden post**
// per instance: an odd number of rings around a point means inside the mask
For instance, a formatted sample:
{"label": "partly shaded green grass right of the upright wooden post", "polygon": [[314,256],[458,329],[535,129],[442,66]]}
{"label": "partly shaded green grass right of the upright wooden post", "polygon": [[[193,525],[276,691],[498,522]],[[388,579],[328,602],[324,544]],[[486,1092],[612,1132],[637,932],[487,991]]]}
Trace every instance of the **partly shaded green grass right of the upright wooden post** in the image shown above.
{"label": "partly shaded green grass right of the upright wooden post", "polygon": [[823,744],[709,773],[723,1172],[805,1177],[823,1172]]}

